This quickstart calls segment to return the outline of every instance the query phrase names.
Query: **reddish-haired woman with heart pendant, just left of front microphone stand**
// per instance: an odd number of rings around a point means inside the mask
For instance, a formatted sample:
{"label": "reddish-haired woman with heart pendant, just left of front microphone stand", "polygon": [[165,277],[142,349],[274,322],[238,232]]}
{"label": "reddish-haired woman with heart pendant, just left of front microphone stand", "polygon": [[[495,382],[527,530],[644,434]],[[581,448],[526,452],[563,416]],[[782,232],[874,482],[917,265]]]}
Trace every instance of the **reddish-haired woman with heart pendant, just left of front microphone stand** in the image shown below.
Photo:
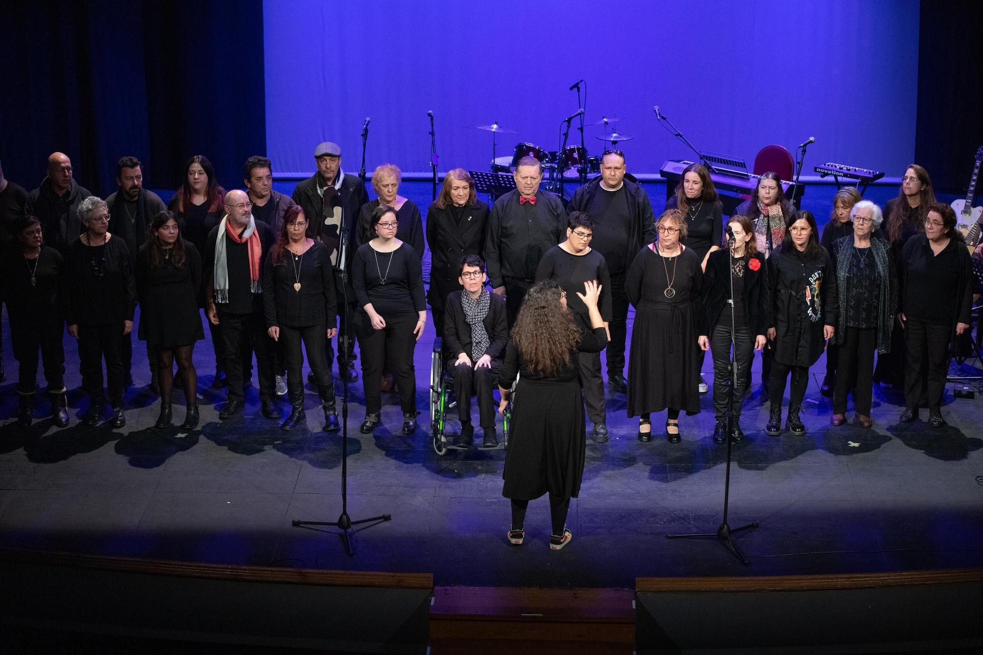
{"label": "reddish-haired woman with heart pendant, just left of front microphone stand", "polygon": [[280,232],[263,270],[262,303],[267,331],[282,344],[287,366],[287,393],[292,408],[280,428],[293,430],[307,418],[301,374],[303,341],[318,384],[324,430],[337,432],[341,426],[335,410],[334,384],[324,354],[325,337],[334,338],[338,331],[334,269],[327,246],[308,238],[308,226],[300,205],[292,205],[283,213]]}

